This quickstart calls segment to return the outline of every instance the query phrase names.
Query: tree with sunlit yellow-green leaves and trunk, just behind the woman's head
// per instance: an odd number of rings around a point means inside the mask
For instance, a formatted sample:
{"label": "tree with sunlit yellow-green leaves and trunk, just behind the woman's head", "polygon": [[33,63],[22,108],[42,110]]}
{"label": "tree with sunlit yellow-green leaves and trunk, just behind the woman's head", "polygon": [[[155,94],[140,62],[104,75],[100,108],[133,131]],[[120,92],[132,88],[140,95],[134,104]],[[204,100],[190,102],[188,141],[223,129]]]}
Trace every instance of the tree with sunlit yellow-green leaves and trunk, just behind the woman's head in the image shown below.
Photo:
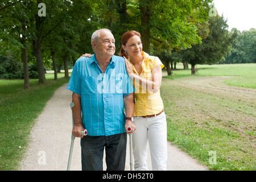
{"label": "tree with sunlit yellow-green leaves and trunk, just behind the woman's head", "polygon": [[188,16],[193,15],[196,22],[208,20],[209,2],[212,0],[139,1],[144,51],[150,53],[152,39],[171,49],[200,43],[195,23],[189,22]]}

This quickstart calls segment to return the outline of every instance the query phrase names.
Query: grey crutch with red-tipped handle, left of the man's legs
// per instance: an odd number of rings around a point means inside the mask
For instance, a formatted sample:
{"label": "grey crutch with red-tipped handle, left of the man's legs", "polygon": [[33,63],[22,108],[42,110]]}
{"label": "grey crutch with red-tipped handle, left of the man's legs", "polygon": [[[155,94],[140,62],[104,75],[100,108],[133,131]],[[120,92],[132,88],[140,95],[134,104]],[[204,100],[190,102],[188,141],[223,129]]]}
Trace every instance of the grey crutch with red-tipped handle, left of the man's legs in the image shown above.
{"label": "grey crutch with red-tipped handle, left of the man's legs", "polygon": [[[74,102],[71,102],[70,107],[72,110],[72,107],[75,106]],[[67,171],[70,170],[70,166],[71,166],[71,159],[72,159],[72,153],[73,153],[73,146],[74,146],[74,141],[75,141],[75,137],[84,137],[85,135],[87,135],[87,130],[86,129],[82,129],[81,131],[81,135],[80,134],[76,134],[76,132],[74,132],[74,117],[73,117],[73,111],[72,111],[72,126],[73,126],[73,130],[72,130],[72,135],[71,135],[71,146],[70,146],[70,150],[69,150],[69,158],[68,158],[68,167],[67,167]],[[75,136],[74,136],[75,135]]]}

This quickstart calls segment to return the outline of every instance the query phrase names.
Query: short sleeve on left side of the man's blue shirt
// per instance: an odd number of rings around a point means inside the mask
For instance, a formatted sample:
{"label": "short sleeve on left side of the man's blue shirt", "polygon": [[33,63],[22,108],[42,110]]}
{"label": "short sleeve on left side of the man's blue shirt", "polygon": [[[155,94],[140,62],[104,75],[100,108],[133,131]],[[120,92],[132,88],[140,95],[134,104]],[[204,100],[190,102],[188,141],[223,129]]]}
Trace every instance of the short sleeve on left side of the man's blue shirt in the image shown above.
{"label": "short sleeve on left side of the man's blue shirt", "polygon": [[73,71],[72,71],[72,74],[71,74],[71,77],[68,82],[67,89],[71,90],[72,92],[75,92],[76,94],[81,95],[81,79],[79,76],[80,74],[79,74],[79,69],[78,69],[79,66],[78,65],[79,65],[79,63],[78,63],[78,61],[76,61]]}

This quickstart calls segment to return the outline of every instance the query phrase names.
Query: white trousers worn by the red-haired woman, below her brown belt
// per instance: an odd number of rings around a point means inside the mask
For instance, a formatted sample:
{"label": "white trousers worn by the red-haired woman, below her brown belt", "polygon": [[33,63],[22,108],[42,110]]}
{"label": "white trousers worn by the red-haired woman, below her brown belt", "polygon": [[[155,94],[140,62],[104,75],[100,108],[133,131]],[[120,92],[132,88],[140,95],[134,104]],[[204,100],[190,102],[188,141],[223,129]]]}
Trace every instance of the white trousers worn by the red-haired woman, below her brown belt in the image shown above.
{"label": "white trousers worn by the red-haired woman, below her brown belt", "polygon": [[167,123],[163,112],[151,118],[134,117],[137,130],[133,133],[135,171],[146,171],[147,143],[150,146],[152,170],[167,170]]}

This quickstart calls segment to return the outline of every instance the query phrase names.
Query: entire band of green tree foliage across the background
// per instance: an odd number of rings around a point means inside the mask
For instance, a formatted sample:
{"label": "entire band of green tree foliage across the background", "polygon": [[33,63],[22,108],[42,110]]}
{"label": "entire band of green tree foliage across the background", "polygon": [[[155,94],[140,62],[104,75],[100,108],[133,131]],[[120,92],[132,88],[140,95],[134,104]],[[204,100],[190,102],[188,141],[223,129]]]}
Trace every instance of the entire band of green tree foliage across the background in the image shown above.
{"label": "entire band of green tree foliage across the background", "polygon": [[[116,40],[116,52],[121,48],[124,32],[136,30],[142,33],[143,49],[158,55],[164,62],[180,61],[193,65],[217,63],[231,48],[229,44],[236,31],[229,33],[223,18],[209,19],[209,3],[212,0],[82,0],[43,1],[46,16],[38,16],[39,1],[7,1],[0,8],[1,53],[11,50],[15,59],[22,59],[21,48],[27,48],[28,63],[36,60],[39,65],[39,81],[43,80],[43,64],[55,55],[57,67],[75,63],[82,53],[92,53],[90,38],[99,28],[112,30]],[[12,5],[12,6],[10,6]],[[26,26],[26,28],[24,28]],[[209,32],[210,30],[210,32]],[[22,39],[21,36],[25,39]],[[250,35],[250,36],[249,36]],[[225,39],[227,38],[227,39]],[[254,40],[254,36],[246,34]],[[222,40],[225,40],[224,43]],[[39,43],[39,44],[36,44]],[[201,44],[203,43],[203,44]],[[241,60],[254,61],[254,43],[242,44],[238,53]],[[192,47],[192,48],[191,48]],[[187,50],[186,50],[187,49]],[[246,50],[251,49],[247,53]],[[174,51],[175,50],[175,51]],[[186,51],[184,51],[186,50]],[[42,51],[42,54],[40,54]],[[171,56],[170,53],[173,52]],[[181,54],[181,55],[180,55]],[[245,56],[246,55],[246,56]],[[36,59],[35,59],[36,57]],[[234,60],[233,58],[230,58]],[[226,60],[230,62],[226,57]]]}

